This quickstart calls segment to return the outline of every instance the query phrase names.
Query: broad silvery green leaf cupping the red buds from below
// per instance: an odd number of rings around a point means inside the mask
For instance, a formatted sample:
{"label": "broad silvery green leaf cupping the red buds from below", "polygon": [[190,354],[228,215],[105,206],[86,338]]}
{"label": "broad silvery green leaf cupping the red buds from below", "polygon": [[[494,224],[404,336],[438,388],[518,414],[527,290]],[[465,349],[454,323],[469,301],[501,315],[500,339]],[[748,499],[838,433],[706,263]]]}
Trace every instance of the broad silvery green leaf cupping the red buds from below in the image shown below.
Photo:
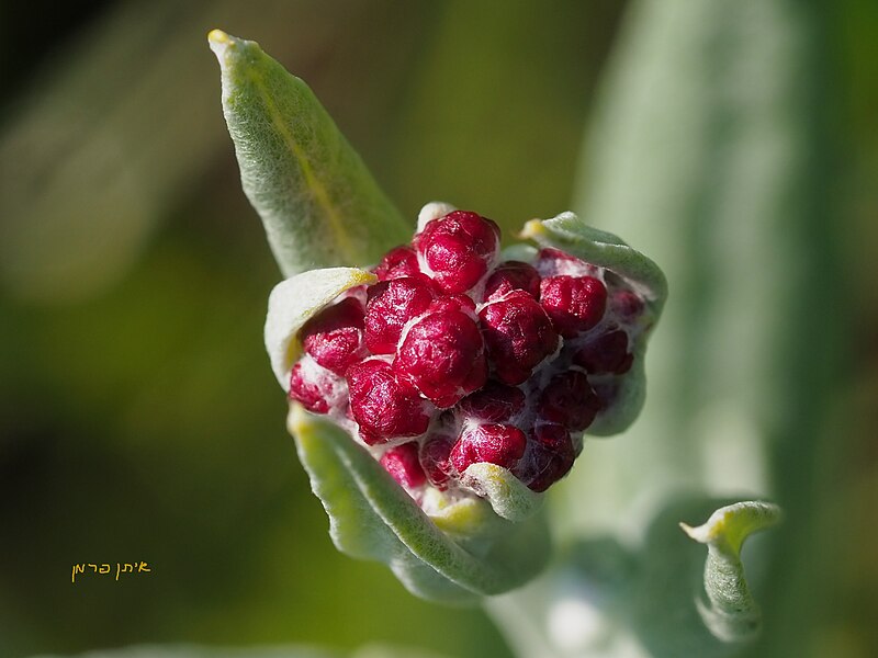
{"label": "broad silvery green leaf cupping the red buds from below", "polygon": [[481,499],[428,517],[345,431],[293,402],[288,421],[339,551],[386,564],[425,599],[475,602],[527,582],[550,553],[542,514],[513,523]]}

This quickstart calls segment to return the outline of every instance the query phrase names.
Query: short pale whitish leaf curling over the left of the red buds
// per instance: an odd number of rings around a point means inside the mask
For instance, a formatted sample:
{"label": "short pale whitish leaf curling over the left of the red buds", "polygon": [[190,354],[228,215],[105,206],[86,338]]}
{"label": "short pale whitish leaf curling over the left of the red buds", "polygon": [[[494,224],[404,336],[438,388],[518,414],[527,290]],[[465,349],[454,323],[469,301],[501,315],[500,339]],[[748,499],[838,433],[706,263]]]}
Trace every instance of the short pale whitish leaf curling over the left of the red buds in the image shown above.
{"label": "short pale whitish leaf curling over the left of the red buds", "polygon": [[282,281],[271,291],[266,318],[266,350],[284,390],[290,370],[302,353],[296,334],[323,307],[348,288],[374,283],[374,274],[356,268],[312,270]]}

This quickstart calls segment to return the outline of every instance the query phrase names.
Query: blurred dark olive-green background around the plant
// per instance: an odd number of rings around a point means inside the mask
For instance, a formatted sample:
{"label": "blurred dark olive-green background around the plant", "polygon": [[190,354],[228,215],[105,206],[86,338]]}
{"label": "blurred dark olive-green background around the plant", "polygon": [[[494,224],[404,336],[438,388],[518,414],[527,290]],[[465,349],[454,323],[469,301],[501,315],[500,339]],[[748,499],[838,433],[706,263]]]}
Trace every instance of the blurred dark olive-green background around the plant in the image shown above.
{"label": "blurred dark olive-green background around the plant", "polygon": [[[509,655],[481,611],[418,601],[331,546],[262,348],[279,272],[205,35],[258,41],[304,78],[413,224],[438,198],[510,231],[570,207],[624,10],[0,5],[0,655],[372,640]],[[854,302],[855,355],[831,392],[824,501],[848,548],[824,577],[831,632],[859,657],[878,583],[878,4],[822,15],[835,285]],[[153,571],[70,582],[76,563],[135,560]]]}

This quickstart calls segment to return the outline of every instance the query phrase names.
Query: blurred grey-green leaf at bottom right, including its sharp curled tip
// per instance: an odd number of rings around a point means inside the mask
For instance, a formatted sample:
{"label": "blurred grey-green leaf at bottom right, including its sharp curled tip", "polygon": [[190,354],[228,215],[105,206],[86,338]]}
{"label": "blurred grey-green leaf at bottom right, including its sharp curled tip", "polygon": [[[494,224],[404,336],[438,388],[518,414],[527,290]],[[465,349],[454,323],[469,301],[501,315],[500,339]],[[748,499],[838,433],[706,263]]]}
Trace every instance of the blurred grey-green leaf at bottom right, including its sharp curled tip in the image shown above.
{"label": "blurred grey-green leaf at bottom right, including its sharp curled tip", "polygon": [[[579,537],[540,578],[492,599],[487,609],[521,658],[738,655],[758,620],[743,580],[741,543],[778,513],[763,502],[676,498],[641,529],[639,541]],[[679,520],[708,515],[708,523],[690,529],[716,545],[719,557],[706,563],[703,548],[679,532]],[[766,558],[765,545],[753,548],[748,560]]]}

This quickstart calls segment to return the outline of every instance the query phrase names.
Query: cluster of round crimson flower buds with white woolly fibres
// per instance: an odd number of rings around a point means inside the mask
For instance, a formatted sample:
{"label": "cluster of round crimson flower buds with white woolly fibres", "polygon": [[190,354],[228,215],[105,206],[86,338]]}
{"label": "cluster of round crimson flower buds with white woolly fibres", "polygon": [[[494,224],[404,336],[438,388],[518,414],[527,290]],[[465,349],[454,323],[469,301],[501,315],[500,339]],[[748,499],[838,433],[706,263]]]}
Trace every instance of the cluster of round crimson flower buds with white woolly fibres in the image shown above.
{"label": "cluster of round crimson flower buds with white woolly fibres", "polygon": [[484,462],[544,491],[611,408],[643,300],[555,249],[503,261],[494,222],[437,206],[376,283],[302,327],[290,397],[348,429],[418,501],[428,488],[477,494],[465,472]]}

